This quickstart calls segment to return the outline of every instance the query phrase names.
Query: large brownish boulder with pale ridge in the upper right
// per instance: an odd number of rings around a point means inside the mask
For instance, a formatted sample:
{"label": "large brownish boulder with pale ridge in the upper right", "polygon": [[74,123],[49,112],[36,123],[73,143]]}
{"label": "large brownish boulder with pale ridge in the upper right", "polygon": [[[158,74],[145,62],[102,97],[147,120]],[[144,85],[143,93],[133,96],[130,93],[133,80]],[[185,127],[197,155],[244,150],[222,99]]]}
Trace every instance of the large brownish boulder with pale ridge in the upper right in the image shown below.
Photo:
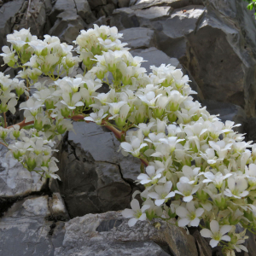
{"label": "large brownish boulder with pale ridge in the upper right", "polygon": [[204,3],[207,13],[187,36],[187,67],[205,98],[234,103],[255,116],[255,20],[243,1]]}

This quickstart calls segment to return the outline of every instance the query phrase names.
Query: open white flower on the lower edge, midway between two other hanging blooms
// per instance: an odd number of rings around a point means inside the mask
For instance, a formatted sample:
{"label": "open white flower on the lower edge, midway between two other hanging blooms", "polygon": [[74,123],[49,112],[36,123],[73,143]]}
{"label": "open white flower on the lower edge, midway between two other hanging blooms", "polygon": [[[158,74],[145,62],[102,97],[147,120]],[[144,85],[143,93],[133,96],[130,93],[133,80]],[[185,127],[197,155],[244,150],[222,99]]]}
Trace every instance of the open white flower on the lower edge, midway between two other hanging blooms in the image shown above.
{"label": "open white flower on the lower edge, midway between two other hanging blooms", "polygon": [[195,209],[194,201],[189,201],[186,207],[177,207],[176,213],[180,218],[177,222],[179,227],[184,227],[186,225],[197,227],[200,223],[200,218],[204,212],[203,208]]}

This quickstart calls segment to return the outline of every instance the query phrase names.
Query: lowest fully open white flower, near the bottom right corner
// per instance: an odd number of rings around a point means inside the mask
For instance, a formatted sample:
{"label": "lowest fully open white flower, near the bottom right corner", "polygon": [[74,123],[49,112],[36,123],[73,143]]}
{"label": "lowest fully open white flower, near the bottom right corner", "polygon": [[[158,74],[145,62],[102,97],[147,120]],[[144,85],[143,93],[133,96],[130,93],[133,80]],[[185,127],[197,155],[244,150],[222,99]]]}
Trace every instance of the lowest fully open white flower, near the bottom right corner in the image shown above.
{"label": "lowest fully open white flower, near the bottom right corner", "polygon": [[200,234],[203,237],[212,238],[212,240],[210,241],[211,247],[217,247],[218,242],[221,240],[224,240],[224,241],[231,240],[230,236],[227,236],[227,235],[224,236],[224,234],[230,232],[232,226],[224,225],[222,227],[219,227],[218,221],[213,219],[210,223],[210,228],[211,230],[207,230],[207,229],[201,230]]}

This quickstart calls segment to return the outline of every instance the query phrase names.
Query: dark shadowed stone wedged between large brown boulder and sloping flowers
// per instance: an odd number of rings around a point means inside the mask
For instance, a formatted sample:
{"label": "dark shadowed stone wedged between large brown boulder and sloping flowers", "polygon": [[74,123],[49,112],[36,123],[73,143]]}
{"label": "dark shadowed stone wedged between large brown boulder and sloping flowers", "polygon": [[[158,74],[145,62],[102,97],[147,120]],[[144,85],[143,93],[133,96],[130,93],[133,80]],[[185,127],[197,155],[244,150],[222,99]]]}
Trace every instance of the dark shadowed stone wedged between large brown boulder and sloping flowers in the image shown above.
{"label": "dark shadowed stone wedged between large brown boulder and sloping flowers", "polygon": [[223,122],[230,120],[234,121],[236,124],[241,124],[240,127],[236,127],[236,131],[244,131],[247,124],[247,117],[241,107],[228,102],[215,102],[211,100],[202,101],[202,106],[206,106],[207,111],[211,114],[219,113],[219,119]]}

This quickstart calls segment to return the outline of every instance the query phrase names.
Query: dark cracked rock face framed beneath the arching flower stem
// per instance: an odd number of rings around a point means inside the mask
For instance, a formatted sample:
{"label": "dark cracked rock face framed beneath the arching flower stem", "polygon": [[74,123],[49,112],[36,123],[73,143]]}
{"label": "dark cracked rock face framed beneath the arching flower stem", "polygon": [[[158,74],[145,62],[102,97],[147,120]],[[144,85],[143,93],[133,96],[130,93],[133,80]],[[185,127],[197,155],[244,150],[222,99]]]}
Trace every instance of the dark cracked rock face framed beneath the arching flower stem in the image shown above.
{"label": "dark cracked rock face framed beneath the arching flower stem", "polygon": [[87,213],[108,212],[129,207],[133,183],[140,174],[140,161],[118,153],[119,142],[102,127],[75,123],[67,137],[61,160],[61,183],[52,181],[51,189],[64,195],[72,218]]}

